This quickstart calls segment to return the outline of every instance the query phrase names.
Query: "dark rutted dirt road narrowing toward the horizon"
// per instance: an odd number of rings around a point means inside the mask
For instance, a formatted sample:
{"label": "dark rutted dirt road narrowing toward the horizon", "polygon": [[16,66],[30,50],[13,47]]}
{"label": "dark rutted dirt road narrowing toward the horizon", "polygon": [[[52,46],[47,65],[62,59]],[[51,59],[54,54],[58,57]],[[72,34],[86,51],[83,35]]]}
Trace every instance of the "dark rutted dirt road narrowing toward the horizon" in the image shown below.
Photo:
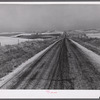
{"label": "dark rutted dirt road narrowing toward the horizon", "polygon": [[1,89],[100,89],[100,72],[71,40],[59,40]]}

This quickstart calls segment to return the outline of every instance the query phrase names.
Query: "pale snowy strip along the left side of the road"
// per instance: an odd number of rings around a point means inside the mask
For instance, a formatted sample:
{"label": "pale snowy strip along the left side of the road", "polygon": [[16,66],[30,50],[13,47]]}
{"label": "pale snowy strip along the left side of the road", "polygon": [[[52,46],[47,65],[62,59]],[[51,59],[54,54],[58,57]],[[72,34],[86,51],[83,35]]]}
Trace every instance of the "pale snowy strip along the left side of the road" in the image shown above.
{"label": "pale snowy strip along the left side of the road", "polygon": [[19,65],[13,72],[7,74],[6,76],[2,77],[0,79],[0,88],[5,85],[7,82],[9,82],[11,79],[14,78],[18,73],[20,73],[23,69],[28,68],[31,64],[35,63],[37,60],[39,60],[47,51],[49,51],[53,46],[55,46],[59,41],[62,39],[54,42],[53,44],[46,47],[44,50],[40,51],[39,53],[35,54],[33,57]]}

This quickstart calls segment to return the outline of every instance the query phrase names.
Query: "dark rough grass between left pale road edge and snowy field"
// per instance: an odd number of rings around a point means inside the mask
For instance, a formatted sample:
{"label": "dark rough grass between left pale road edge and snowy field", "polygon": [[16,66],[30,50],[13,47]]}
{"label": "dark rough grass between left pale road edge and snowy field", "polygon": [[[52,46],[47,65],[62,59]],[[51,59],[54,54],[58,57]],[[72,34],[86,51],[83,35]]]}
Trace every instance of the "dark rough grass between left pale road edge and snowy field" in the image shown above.
{"label": "dark rough grass between left pale road edge and snowy field", "polygon": [[55,40],[26,41],[18,45],[0,47],[0,78],[12,72],[39,51],[43,50]]}

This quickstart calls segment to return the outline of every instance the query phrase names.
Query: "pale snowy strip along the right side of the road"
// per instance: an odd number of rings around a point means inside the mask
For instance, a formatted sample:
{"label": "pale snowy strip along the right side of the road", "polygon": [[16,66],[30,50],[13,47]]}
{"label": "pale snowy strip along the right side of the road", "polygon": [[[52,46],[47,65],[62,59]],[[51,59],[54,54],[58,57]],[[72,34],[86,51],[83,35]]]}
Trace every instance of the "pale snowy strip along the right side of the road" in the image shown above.
{"label": "pale snowy strip along the right side of the road", "polygon": [[93,51],[87,49],[86,47],[80,45],[79,43],[69,39],[73,44],[75,44],[83,54],[90,60],[94,67],[100,72],[100,55],[94,53]]}

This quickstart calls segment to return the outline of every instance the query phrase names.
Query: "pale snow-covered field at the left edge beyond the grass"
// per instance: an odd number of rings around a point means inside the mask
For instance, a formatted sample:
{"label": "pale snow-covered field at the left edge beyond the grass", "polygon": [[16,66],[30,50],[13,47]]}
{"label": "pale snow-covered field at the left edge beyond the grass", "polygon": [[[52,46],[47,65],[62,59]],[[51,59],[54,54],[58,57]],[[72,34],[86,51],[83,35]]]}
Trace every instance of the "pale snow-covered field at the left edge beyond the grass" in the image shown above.
{"label": "pale snow-covered field at the left edge beyond the grass", "polygon": [[32,39],[22,39],[22,38],[12,38],[12,37],[4,37],[0,36],[0,45],[14,45],[24,41],[30,41]]}

